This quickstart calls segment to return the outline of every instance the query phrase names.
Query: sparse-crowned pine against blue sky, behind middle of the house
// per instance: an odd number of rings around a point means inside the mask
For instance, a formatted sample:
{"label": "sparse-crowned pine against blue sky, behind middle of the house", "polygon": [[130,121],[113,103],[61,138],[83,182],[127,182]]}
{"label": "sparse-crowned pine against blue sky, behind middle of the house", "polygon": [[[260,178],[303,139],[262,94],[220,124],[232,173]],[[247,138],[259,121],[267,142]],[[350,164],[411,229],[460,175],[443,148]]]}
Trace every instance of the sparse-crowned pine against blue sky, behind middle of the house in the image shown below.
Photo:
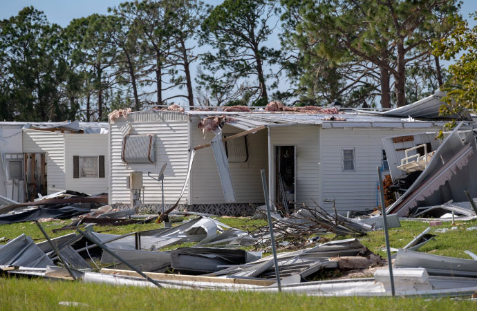
{"label": "sparse-crowned pine against blue sky, behind middle of the house", "polygon": [[200,73],[198,81],[215,104],[268,102],[270,75],[263,66],[273,62],[279,51],[263,44],[274,30],[271,24],[277,10],[270,0],[225,0],[210,10],[200,42],[216,53],[203,55],[203,66],[210,73]]}

